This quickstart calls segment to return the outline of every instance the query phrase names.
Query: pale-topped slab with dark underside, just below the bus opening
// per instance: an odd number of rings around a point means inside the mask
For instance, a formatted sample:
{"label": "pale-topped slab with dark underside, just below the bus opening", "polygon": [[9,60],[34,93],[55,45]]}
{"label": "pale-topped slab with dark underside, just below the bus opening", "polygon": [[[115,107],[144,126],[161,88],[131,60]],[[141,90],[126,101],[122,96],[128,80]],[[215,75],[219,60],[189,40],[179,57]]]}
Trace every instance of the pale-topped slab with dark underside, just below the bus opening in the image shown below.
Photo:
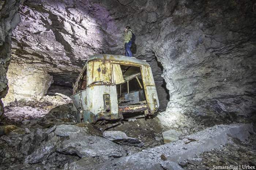
{"label": "pale-topped slab with dark underside, just below the bus opening", "polygon": [[104,131],[103,137],[123,146],[125,145],[141,147],[144,145],[144,143],[139,139],[127,137],[127,135],[121,131]]}

